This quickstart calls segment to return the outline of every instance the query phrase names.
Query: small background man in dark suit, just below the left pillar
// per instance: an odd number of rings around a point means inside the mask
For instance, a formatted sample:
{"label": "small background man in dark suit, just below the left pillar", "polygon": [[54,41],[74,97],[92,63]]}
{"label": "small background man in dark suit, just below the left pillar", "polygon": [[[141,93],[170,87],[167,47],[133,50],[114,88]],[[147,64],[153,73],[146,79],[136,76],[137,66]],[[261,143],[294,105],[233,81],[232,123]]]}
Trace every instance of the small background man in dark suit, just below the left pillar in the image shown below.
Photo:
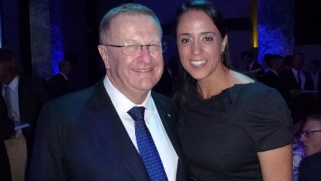
{"label": "small background man in dark suit, just below the left pillar", "polygon": [[52,76],[49,81],[49,90],[51,91],[51,98],[59,97],[70,92],[69,76],[71,74],[71,64],[67,60],[58,63],[59,72]]}

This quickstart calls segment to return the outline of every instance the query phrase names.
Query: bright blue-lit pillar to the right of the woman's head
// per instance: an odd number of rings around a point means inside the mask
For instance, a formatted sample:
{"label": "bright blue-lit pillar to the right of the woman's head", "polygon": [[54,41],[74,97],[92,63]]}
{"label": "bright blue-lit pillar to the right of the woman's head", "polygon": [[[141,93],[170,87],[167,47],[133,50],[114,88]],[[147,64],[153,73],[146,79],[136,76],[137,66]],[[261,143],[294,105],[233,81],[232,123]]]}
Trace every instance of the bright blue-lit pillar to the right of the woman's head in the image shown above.
{"label": "bright blue-lit pillar to the right of the woman's head", "polygon": [[294,0],[257,0],[258,60],[266,53],[293,54]]}

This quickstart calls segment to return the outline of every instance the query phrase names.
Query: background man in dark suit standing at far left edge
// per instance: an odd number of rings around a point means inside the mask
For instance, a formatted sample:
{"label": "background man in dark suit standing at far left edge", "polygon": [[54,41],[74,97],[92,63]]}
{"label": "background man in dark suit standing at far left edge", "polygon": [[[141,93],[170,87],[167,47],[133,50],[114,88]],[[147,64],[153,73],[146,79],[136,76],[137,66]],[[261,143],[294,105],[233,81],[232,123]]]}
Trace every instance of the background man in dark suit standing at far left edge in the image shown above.
{"label": "background man in dark suit standing at far left edge", "polygon": [[22,76],[18,56],[9,48],[0,48],[0,90],[11,120],[29,123],[5,140],[13,181],[25,177],[32,153],[38,115],[47,100],[46,82]]}

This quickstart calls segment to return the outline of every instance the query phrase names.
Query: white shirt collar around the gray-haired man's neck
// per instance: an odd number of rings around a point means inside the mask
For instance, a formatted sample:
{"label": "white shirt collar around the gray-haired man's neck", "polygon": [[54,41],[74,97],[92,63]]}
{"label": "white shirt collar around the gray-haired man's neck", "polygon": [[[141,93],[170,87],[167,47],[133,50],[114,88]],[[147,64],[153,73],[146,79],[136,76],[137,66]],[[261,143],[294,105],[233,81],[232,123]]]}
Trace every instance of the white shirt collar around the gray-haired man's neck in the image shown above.
{"label": "white shirt collar around the gray-haired man's neck", "polygon": [[119,114],[127,114],[127,111],[134,106],[144,106],[146,108],[145,112],[147,114],[156,114],[153,106],[151,90],[148,92],[143,103],[135,104],[131,100],[129,100],[123,93],[121,93],[118,89],[115,88],[115,86],[110,82],[108,76],[105,76],[103,82],[105,89]]}

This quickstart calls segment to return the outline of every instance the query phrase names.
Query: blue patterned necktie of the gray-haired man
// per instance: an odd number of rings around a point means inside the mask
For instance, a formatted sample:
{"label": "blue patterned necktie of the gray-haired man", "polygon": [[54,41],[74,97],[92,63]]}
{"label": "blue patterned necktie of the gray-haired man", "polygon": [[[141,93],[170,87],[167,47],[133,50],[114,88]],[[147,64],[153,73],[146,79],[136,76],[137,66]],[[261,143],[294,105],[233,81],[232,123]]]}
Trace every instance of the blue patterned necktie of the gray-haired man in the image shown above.
{"label": "blue patterned necktie of the gray-haired man", "polygon": [[145,107],[133,107],[127,113],[135,122],[139,154],[152,181],[168,181],[160,154],[144,121]]}

